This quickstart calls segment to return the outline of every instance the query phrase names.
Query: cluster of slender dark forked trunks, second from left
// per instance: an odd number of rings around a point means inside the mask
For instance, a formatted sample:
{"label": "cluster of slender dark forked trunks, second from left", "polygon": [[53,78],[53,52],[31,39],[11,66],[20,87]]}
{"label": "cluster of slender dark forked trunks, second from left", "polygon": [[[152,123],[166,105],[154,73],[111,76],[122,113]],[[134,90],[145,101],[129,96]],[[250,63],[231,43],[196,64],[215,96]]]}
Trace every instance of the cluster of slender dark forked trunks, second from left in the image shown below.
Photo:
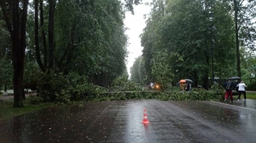
{"label": "cluster of slender dark forked trunks, second from left", "polygon": [[[34,0],[34,10],[35,10],[34,11],[35,13],[35,30],[34,30],[35,36],[34,37],[35,37],[35,46],[36,46],[36,61],[42,71],[54,69],[54,51],[55,51],[54,17],[55,17],[55,9],[56,9],[56,0],[48,1],[47,5],[48,6],[44,6],[43,0]],[[39,12],[40,12],[40,16],[39,16]],[[45,14],[47,16],[45,16]],[[47,17],[48,26],[44,26],[45,20],[46,20],[44,17]],[[39,19],[40,19],[40,23],[39,23]],[[45,27],[47,27],[47,30]],[[41,35],[39,33],[41,33]],[[41,40],[39,37],[41,37]],[[43,54],[41,54],[41,51],[43,51]],[[43,55],[43,62],[41,60],[42,55]]]}

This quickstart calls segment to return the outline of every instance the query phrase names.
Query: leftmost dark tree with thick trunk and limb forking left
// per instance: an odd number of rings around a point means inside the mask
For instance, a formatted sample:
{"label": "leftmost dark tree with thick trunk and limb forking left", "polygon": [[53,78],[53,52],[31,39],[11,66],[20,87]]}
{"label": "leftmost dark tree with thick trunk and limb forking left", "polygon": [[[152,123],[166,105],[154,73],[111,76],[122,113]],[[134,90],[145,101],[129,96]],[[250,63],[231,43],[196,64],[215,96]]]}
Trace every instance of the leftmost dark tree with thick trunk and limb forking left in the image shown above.
{"label": "leftmost dark tree with thick trunk and limb forking left", "polygon": [[23,72],[26,49],[26,19],[29,0],[2,0],[0,6],[12,41],[13,107],[23,107]]}

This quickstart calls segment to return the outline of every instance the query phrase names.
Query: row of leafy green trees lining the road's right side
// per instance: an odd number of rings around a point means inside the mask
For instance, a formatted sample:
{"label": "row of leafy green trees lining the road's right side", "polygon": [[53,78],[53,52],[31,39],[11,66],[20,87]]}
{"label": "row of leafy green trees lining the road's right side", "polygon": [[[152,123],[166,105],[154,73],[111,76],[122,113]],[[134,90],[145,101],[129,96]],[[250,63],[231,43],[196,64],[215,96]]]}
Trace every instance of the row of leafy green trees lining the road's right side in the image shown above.
{"label": "row of leafy green trees lining the road's right side", "polygon": [[255,73],[255,1],[154,0],[150,5],[141,34],[143,55],[131,68],[131,80],[167,85],[190,78],[208,90],[216,77]]}

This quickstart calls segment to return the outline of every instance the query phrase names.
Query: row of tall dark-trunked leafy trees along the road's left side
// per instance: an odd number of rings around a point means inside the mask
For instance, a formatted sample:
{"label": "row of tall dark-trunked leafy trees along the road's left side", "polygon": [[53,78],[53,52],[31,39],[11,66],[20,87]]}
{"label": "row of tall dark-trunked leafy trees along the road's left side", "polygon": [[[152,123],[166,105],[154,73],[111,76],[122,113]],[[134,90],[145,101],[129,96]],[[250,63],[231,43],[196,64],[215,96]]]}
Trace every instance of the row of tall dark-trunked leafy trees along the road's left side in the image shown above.
{"label": "row of tall dark-trunked leafy trees along the road's left side", "polygon": [[29,65],[34,63],[43,72],[75,72],[102,87],[125,73],[124,13],[133,13],[138,4],[140,0],[1,0],[1,83],[10,79],[2,76],[10,70],[2,65],[11,64],[14,107],[23,106],[24,71],[33,70]]}

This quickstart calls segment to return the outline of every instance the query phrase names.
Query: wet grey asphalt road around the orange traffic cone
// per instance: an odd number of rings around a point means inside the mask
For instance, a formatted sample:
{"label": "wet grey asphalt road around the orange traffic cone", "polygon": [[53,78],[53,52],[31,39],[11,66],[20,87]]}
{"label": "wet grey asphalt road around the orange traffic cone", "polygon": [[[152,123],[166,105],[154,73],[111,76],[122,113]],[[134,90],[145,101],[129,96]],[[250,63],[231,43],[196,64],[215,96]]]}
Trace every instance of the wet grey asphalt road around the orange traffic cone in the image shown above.
{"label": "wet grey asphalt road around the orange traffic cone", "polygon": [[[256,142],[254,103],[126,100],[53,107],[1,121],[0,142]],[[141,124],[144,108],[150,124]]]}

